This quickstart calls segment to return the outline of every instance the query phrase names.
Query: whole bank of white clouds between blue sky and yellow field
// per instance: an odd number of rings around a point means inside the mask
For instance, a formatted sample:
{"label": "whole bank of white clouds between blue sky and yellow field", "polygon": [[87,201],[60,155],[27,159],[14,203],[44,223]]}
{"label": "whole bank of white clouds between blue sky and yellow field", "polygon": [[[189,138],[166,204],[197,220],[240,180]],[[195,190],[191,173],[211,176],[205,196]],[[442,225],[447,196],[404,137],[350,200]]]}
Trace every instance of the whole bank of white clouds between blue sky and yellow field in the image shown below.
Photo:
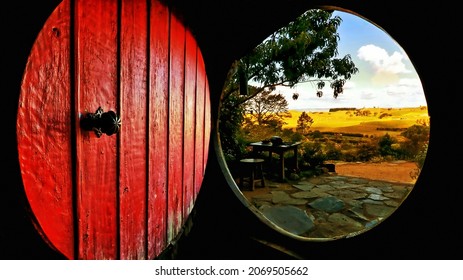
{"label": "whole bank of white clouds between blue sky and yellow field", "polygon": [[[329,84],[323,89],[323,97],[316,96],[314,83],[302,83],[295,88],[277,87],[277,92],[285,96],[290,109],[336,107],[417,107],[426,105],[421,81],[413,68],[407,69],[409,59],[404,53],[388,52],[375,45],[364,45],[358,49],[358,59],[362,63],[362,75],[353,76],[344,85],[344,93],[333,98]],[[365,68],[365,62],[371,66]],[[356,62],[357,64],[357,62]],[[410,66],[409,66],[410,67]],[[293,93],[299,93],[297,100]]]}

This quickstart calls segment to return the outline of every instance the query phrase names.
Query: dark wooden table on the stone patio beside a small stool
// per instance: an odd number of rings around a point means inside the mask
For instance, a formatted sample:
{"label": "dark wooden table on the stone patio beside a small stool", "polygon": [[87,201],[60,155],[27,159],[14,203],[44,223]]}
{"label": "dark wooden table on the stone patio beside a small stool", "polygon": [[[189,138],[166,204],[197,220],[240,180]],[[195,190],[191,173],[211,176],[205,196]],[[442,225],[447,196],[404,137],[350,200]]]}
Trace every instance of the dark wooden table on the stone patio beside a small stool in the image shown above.
{"label": "dark wooden table on the stone patio beside a small stool", "polygon": [[285,179],[285,157],[284,154],[289,151],[294,152],[294,166],[296,170],[299,169],[298,167],[298,158],[297,158],[297,149],[298,146],[301,144],[301,142],[283,142],[281,145],[273,145],[271,142],[270,143],[263,143],[261,142],[253,142],[248,144],[249,146],[252,147],[253,153],[260,153],[260,152],[268,152],[268,158],[269,161],[272,161],[272,154],[276,153],[279,155],[280,160],[279,160],[279,173],[280,173],[280,179],[284,180]]}

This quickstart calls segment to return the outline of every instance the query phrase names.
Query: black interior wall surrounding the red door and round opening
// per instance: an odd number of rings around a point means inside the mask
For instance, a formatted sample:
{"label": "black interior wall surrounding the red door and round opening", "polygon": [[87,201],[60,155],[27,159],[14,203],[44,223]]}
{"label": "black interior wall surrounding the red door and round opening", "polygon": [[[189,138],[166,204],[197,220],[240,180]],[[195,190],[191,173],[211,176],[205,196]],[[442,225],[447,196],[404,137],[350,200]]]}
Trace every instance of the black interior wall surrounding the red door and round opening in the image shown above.
{"label": "black interior wall surrounding the red door and round opening", "polygon": [[[59,259],[34,230],[25,210],[16,152],[19,86],[30,48],[60,1],[12,1],[2,18],[2,183],[0,258]],[[270,230],[232,193],[211,141],[206,179],[195,206],[191,232],[179,244],[179,258],[284,258],[253,241],[283,247],[307,259],[462,258],[461,144],[457,81],[463,62],[457,44],[461,24],[449,1],[167,1],[195,34],[208,74],[213,127],[222,83],[232,61],[267,35],[317,5],[356,12],[382,27],[407,52],[425,90],[431,115],[431,140],[422,174],[393,216],[355,238],[301,242]],[[409,3],[410,2],[410,3]],[[446,4],[447,3],[447,4]]]}

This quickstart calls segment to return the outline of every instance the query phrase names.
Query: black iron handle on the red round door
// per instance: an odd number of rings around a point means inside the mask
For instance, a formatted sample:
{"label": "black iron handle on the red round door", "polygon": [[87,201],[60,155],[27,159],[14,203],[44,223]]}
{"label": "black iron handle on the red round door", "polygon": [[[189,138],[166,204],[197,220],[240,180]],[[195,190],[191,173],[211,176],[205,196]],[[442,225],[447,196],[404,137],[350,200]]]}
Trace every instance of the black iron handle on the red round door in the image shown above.
{"label": "black iron handle on the red round door", "polygon": [[80,127],[84,130],[94,131],[99,138],[104,133],[111,136],[121,129],[121,119],[114,111],[104,112],[98,107],[95,113],[87,113],[80,119]]}

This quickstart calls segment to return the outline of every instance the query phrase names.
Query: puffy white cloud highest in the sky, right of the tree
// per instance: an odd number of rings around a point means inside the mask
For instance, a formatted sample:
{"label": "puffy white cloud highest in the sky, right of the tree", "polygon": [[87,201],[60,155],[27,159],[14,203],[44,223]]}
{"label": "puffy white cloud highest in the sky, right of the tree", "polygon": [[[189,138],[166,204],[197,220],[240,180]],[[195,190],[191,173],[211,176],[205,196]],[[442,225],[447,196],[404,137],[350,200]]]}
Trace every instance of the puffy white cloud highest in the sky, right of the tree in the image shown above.
{"label": "puffy white cloud highest in the sky, right of the tree", "polygon": [[369,44],[358,49],[357,57],[368,62],[377,73],[410,73],[403,63],[407,56],[397,51],[389,55],[385,49]]}

